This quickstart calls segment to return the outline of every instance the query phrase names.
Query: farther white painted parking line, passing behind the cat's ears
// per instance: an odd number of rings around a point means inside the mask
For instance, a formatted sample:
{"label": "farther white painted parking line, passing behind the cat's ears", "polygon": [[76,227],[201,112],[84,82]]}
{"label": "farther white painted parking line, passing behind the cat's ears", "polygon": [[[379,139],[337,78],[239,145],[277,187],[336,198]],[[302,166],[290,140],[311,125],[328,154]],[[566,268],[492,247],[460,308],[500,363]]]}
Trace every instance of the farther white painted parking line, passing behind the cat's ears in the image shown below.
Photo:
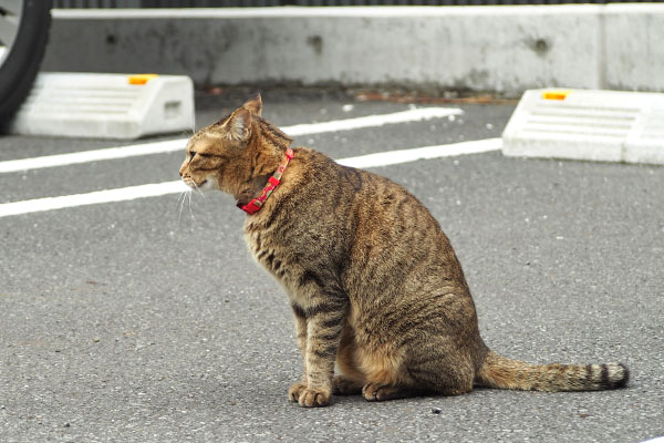
{"label": "farther white painted parking line, passing behind the cat's ears", "polygon": [[[464,112],[458,107],[418,107],[392,114],[367,115],[356,119],[334,120],[331,122],[299,124],[281,130],[292,136],[322,134],[325,132],[351,131],[363,127],[376,127],[385,124],[419,122],[458,115]],[[113,158],[135,157],[139,155],[163,154],[181,151],[185,153],[187,138],[167,140],[163,142],[142,143],[129,146],[108,147],[105,150],[83,151],[77,153],[46,155],[43,157],[22,158],[0,162],[1,173],[38,169],[43,167],[65,166],[80,163],[98,162]]]}

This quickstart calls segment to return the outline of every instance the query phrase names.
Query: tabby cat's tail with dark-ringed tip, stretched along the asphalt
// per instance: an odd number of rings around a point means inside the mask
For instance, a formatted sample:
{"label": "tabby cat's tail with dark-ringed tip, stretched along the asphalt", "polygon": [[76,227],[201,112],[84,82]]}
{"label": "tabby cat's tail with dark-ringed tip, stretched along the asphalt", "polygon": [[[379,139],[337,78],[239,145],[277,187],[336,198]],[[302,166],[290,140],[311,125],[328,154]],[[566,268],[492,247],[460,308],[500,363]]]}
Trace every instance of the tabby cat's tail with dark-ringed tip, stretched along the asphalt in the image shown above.
{"label": "tabby cat's tail with dark-ringed tip, stretched along the asphalt", "polygon": [[630,370],[622,363],[529,364],[488,351],[476,384],[523,391],[600,391],[627,385]]}

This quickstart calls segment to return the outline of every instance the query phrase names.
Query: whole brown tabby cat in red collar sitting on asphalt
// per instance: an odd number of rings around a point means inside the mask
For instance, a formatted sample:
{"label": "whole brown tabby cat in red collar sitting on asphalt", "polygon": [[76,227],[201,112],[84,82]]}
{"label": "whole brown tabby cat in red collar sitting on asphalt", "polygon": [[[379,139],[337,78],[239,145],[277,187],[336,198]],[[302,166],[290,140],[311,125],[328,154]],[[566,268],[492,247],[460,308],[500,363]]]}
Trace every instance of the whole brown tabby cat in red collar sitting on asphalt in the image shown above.
{"label": "whole brown tabby cat in red collar sitting on asphalt", "polygon": [[232,194],[248,213],[249,249],[294,315],[303,371],[292,401],[627,384],[622,363],[528,364],[489,350],[461,267],[429,212],[387,178],[291,150],[261,107],[259,95],[194,134],[179,173],[193,188]]}

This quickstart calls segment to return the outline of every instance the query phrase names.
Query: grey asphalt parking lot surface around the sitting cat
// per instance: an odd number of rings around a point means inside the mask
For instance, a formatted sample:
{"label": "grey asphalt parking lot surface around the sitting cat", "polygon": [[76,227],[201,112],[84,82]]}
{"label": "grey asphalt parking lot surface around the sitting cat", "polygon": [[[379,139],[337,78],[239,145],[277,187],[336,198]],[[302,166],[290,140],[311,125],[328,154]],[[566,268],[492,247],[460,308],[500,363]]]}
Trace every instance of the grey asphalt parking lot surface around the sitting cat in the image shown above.
{"label": "grey asphalt parking lot surface around the sitting cat", "polygon": [[[248,96],[197,97],[197,124]],[[456,107],[457,105],[449,105]],[[278,125],[403,111],[343,94],[263,94]],[[498,137],[513,104],[297,137],[334,158]],[[183,134],[162,138],[173,138]],[[155,138],[152,138],[155,140]],[[141,142],[149,142],[145,140]],[[136,143],[136,142],[132,142]],[[129,144],[129,143],[124,143]],[[0,162],[120,146],[0,137]],[[181,153],[0,174],[0,203],[177,179]],[[626,363],[627,389],[369,403],[287,400],[300,375],[280,287],[219,193],[0,218],[0,441],[577,441],[664,434],[664,168],[504,157],[372,171],[412,190],[459,256],[480,330],[530,362]]]}

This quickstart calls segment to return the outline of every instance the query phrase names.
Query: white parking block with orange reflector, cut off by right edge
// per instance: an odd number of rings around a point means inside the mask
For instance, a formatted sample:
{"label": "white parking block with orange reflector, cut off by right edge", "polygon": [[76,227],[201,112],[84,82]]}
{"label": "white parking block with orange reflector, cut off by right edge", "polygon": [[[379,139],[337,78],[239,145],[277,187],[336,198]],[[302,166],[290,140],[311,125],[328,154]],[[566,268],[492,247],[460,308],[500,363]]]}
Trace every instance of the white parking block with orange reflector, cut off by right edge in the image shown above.
{"label": "white parking block with orange reflector, cut off by right edge", "polygon": [[509,156],[664,164],[664,94],[526,91],[502,142]]}

